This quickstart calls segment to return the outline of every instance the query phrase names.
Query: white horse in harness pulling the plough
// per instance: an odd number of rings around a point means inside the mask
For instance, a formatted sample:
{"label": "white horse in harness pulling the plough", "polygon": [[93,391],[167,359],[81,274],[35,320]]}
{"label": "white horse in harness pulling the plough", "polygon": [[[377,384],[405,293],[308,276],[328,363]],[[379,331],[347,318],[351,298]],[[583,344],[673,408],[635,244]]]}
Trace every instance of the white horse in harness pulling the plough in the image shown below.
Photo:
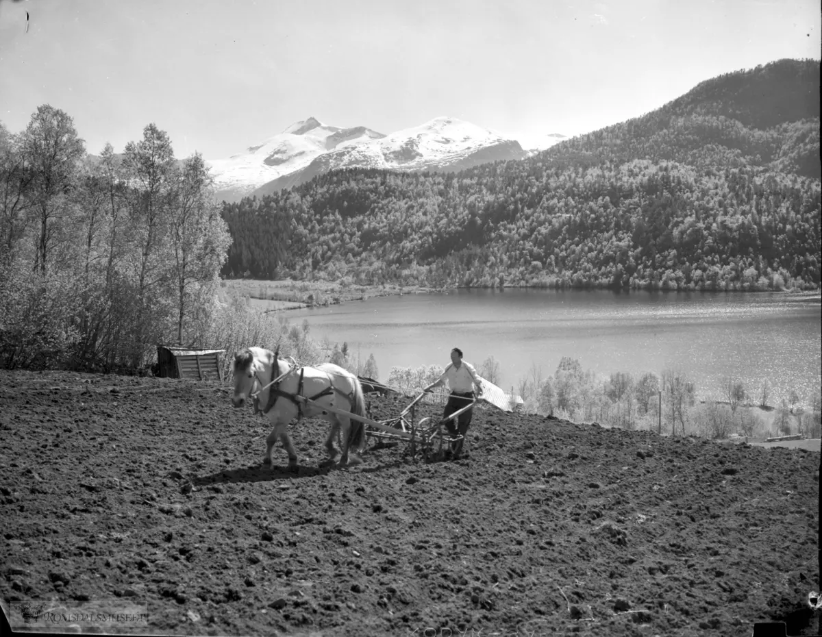
{"label": "white horse in harness pulling the plough", "polygon": [[[248,397],[252,397],[255,411],[262,411],[273,426],[266,438],[263,464],[271,464],[271,449],[279,438],[289,455],[289,469],[297,470],[297,451],[291,442],[288,426],[294,418],[302,416],[319,417],[330,422],[326,439],[330,462],[337,455],[334,437],[339,430],[342,430],[340,466],[363,462],[357,453],[362,450],[365,441],[363,422],[323,409],[342,409],[364,416],[365,398],[357,376],[330,362],[316,367],[297,367],[279,360],[278,354],[279,350],[274,353],[269,349],[250,347],[234,355],[232,404],[242,407]],[[312,399],[319,406],[298,397]]]}

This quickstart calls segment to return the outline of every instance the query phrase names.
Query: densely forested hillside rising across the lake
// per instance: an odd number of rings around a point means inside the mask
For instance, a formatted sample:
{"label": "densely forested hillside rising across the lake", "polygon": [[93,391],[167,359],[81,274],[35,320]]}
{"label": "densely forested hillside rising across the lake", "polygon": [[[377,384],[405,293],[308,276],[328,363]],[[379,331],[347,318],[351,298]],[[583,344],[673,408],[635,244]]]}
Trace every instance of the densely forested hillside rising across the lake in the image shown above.
{"label": "densely forested hillside rising across the lake", "polygon": [[328,173],[224,205],[223,274],[379,284],[820,285],[820,63],[703,82],[461,173]]}

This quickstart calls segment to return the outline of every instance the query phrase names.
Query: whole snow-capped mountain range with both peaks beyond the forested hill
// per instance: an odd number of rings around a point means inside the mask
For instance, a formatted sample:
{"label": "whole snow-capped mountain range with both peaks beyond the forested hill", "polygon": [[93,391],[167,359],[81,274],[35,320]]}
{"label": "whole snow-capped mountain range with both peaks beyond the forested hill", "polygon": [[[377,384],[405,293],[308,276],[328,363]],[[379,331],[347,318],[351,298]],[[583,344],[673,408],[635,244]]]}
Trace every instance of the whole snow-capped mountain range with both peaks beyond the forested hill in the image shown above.
{"label": "whole snow-capped mountain range with both peaks beyond the forested hill", "polygon": [[388,136],[309,118],[245,153],[210,164],[218,197],[238,201],[298,186],[338,168],[451,172],[526,156],[519,142],[456,118],[435,118]]}

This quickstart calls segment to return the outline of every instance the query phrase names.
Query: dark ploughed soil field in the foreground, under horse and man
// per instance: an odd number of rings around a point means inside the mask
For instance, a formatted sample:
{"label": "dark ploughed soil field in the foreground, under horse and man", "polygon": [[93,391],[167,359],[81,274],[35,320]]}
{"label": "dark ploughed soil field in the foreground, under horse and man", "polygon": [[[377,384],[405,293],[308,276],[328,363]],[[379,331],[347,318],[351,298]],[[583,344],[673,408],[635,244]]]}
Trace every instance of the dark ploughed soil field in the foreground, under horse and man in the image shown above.
{"label": "dark ploughed soil field in the foreground, under horse and man", "polygon": [[453,462],[320,469],[327,425],[295,423],[294,475],[229,396],[0,372],[4,609],[127,598],[166,635],[819,630],[818,453],[488,408]]}

